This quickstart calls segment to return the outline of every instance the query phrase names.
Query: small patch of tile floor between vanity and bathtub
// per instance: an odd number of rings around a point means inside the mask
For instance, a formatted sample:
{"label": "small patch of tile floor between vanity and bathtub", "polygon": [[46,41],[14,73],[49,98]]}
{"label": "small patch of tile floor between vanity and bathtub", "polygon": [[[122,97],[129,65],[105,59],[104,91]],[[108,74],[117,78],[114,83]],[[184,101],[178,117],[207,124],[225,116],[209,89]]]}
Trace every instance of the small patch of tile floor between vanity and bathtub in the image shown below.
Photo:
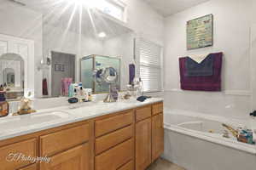
{"label": "small patch of tile floor between vanity and bathtub", "polygon": [[177,165],[166,161],[164,159],[158,159],[155,161],[147,170],[185,170],[183,167],[178,167]]}

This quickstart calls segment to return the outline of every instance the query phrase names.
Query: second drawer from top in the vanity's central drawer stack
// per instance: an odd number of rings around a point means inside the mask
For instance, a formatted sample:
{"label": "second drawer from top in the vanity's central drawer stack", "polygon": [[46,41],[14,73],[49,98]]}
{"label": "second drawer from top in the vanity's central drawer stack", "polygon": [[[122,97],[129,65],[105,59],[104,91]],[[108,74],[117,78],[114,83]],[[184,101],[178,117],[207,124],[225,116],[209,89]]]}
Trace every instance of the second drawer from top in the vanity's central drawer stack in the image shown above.
{"label": "second drawer from top in the vanity's central drawer stack", "polygon": [[116,144],[120,144],[121,142],[130,139],[132,137],[132,131],[133,127],[129,126],[96,139],[96,155],[102,153],[102,151],[104,150],[108,150],[109,148],[113,147]]}

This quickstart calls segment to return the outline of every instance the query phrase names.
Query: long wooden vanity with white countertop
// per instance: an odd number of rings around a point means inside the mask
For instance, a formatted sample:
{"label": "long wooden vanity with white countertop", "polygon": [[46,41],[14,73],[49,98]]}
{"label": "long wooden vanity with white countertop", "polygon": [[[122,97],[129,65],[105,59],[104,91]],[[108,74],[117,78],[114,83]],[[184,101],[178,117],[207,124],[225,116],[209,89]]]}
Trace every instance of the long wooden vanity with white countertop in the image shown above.
{"label": "long wooden vanity with white countertop", "polygon": [[[144,170],[164,150],[162,99],[57,110],[69,116],[29,123],[24,131],[0,130],[0,170]],[[20,161],[12,154],[50,161]]]}

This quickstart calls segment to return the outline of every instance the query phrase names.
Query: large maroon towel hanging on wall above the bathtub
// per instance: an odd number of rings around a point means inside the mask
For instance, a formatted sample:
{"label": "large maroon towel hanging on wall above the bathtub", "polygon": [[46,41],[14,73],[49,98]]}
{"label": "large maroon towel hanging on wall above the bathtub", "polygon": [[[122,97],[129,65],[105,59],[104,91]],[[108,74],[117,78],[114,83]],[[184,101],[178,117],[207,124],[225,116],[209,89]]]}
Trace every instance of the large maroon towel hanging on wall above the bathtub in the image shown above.
{"label": "large maroon towel hanging on wall above the bathtub", "polygon": [[181,89],[196,91],[221,91],[221,67],[223,53],[213,54],[213,75],[208,77],[186,77],[186,57],[179,58]]}

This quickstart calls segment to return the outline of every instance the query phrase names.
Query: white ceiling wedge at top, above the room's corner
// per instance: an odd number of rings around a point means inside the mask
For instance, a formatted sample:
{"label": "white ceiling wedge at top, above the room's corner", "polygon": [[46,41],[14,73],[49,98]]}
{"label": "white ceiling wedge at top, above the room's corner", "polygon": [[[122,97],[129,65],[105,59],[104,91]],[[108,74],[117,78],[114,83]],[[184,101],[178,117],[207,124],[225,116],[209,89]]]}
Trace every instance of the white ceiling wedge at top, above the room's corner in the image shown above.
{"label": "white ceiling wedge at top, above the room's corner", "polygon": [[143,0],[159,14],[169,16],[209,0]]}

